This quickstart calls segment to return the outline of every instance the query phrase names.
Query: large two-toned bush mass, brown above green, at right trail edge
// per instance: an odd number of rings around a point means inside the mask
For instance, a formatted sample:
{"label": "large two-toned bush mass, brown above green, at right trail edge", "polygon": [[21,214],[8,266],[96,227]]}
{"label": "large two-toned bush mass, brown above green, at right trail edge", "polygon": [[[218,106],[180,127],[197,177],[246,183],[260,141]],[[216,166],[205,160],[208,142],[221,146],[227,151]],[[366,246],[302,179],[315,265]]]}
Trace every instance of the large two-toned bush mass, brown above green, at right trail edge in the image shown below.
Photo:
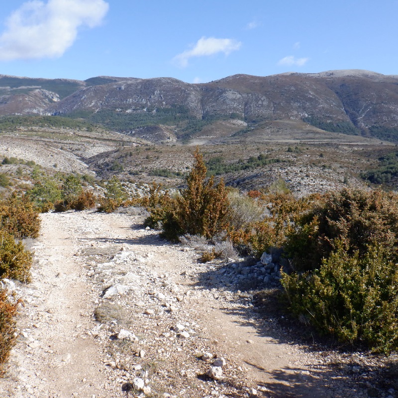
{"label": "large two-toned bush mass, brown above green, at right trail edge", "polygon": [[323,196],[288,231],[291,310],[340,341],[398,348],[398,197],[344,189]]}

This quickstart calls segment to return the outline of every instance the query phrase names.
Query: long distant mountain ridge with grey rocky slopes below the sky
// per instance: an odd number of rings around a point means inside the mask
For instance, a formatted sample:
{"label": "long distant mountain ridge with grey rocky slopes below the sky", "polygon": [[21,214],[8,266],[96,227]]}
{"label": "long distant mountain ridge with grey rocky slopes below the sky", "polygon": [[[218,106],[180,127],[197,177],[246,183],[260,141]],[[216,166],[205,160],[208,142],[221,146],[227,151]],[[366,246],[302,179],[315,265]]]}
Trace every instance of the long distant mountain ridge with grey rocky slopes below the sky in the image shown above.
{"label": "long distant mountain ridge with grey rocky slopes below the sky", "polygon": [[398,142],[398,76],[341,70],[188,84],[173,78],[0,75],[0,115],[15,114],[76,118],[154,142],[233,139],[273,121]]}

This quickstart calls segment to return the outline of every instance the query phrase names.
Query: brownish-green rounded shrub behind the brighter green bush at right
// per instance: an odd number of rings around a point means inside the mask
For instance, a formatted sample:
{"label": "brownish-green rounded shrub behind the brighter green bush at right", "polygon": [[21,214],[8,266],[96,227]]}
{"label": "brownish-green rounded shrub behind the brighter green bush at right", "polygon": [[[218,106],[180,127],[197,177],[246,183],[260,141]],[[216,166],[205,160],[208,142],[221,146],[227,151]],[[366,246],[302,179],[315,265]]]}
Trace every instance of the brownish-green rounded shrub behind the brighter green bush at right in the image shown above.
{"label": "brownish-green rounded shrub behind the brighter green bush at right", "polygon": [[327,194],[296,219],[288,235],[286,251],[298,271],[319,268],[338,241],[350,254],[358,250],[360,255],[382,242],[390,258],[398,261],[398,197],[349,188]]}

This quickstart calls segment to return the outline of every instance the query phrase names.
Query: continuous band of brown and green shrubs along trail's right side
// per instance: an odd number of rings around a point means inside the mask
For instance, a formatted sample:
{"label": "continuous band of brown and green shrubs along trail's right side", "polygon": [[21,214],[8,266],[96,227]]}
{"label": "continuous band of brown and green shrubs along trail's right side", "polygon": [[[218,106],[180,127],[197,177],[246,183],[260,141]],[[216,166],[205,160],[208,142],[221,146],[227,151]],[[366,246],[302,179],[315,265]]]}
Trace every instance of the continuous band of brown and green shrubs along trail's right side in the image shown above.
{"label": "continuous band of brown and green shrubs along trail's right side", "polygon": [[[154,185],[146,224],[167,239],[185,234],[231,242],[259,258],[282,250],[281,284],[289,310],[321,334],[389,354],[398,348],[398,197],[346,188],[300,199],[274,184],[243,195],[205,180],[202,156],[187,188]],[[219,251],[202,255],[210,261]]]}

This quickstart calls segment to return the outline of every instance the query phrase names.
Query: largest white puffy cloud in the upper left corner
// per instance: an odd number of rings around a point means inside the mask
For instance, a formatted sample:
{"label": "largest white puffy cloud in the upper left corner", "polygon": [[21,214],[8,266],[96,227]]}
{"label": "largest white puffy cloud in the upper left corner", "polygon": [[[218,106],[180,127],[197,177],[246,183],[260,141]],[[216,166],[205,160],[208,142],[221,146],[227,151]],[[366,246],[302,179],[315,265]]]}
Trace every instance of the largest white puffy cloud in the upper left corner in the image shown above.
{"label": "largest white puffy cloud in the upper left corner", "polygon": [[104,0],[24,2],[0,34],[0,61],[60,57],[75,42],[78,28],[99,25],[108,7]]}

